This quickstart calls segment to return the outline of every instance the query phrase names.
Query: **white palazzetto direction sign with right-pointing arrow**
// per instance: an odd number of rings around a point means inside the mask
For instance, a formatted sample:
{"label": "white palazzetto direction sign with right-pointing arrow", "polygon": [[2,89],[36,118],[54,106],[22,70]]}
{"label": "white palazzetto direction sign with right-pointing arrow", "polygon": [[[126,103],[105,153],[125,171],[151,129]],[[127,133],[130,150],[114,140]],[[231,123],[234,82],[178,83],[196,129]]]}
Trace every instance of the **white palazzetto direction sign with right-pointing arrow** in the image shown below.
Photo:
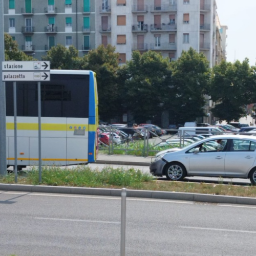
{"label": "white palazzetto direction sign with right-pointing arrow", "polygon": [[50,81],[50,71],[3,71],[2,80],[7,81]]}

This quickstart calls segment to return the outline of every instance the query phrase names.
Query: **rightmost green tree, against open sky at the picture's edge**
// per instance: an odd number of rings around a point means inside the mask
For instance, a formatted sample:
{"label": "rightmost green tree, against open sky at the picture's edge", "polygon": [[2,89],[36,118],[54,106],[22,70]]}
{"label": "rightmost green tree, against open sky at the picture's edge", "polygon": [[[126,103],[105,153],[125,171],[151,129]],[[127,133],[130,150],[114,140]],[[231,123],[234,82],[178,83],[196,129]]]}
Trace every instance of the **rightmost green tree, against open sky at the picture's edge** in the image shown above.
{"label": "rightmost green tree, against open sky at the picture's edge", "polygon": [[209,94],[216,105],[211,111],[220,120],[230,122],[244,116],[244,106],[256,99],[254,92],[255,73],[248,59],[222,61],[212,69]]}

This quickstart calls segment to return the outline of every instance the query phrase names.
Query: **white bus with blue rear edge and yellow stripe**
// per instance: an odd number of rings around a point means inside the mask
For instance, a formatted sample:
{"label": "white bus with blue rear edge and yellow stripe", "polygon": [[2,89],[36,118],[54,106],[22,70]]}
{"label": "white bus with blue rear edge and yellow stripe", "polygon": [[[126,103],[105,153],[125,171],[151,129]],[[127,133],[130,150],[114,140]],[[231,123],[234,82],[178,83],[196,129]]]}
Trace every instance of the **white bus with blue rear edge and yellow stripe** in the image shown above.
{"label": "white bus with blue rear edge and yellow stripe", "polygon": [[[41,164],[73,165],[97,158],[98,95],[92,71],[51,70],[41,82]],[[7,167],[14,166],[12,82],[6,83]],[[20,81],[17,94],[17,165],[38,165],[37,83]]]}

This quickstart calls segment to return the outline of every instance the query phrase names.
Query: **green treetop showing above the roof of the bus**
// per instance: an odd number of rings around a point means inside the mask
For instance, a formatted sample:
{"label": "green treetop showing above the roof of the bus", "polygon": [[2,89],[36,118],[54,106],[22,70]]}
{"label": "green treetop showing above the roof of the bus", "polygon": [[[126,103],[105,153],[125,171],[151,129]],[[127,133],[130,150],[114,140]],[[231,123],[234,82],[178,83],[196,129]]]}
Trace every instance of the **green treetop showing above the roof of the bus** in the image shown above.
{"label": "green treetop showing above the roof of the bus", "polygon": [[79,70],[83,64],[74,46],[66,48],[60,44],[52,47],[46,56],[42,56],[42,60],[51,61],[51,69]]}

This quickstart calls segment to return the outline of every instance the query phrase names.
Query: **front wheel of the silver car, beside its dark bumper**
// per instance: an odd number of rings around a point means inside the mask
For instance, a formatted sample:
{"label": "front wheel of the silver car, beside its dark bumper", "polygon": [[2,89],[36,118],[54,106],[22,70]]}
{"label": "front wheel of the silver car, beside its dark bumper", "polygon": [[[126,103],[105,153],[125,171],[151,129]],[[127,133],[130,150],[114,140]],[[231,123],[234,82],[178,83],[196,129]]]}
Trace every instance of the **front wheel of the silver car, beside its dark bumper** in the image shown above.
{"label": "front wheel of the silver car, beside its dark bumper", "polygon": [[167,180],[181,181],[187,175],[184,165],[178,162],[168,163],[165,167]]}

